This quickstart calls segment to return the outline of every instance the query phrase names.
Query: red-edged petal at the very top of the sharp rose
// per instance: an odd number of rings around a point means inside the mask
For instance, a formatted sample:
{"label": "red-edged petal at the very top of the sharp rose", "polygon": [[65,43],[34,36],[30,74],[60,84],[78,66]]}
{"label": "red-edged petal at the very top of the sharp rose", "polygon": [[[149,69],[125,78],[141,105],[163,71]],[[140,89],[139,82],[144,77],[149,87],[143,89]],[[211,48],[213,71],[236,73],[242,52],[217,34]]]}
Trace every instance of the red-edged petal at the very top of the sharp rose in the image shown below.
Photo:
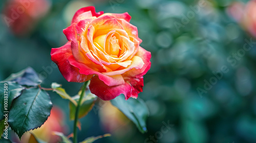
{"label": "red-edged petal at the very top of the sharp rose", "polygon": [[[87,13],[87,12],[89,12],[89,13]],[[95,12],[95,7],[93,7],[93,6],[81,8],[78,11],[76,11],[75,15],[73,16],[71,24],[75,23],[77,21],[83,20],[83,19],[88,19],[91,17],[91,15],[98,17],[103,13],[104,13],[103,11]]]}

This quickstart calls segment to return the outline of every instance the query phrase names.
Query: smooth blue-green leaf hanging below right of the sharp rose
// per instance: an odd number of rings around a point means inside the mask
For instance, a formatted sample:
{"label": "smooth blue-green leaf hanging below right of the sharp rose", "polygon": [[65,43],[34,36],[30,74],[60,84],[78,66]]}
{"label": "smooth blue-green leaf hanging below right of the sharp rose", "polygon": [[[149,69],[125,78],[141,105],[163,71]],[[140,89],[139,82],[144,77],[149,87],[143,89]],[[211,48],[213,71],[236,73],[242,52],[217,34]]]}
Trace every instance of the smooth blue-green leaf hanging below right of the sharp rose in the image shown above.
{"label": "smooth blue-green leaf hanging below right of the sharp rose", "polygon": [[140,132],[146,132],[146,118],[149,115],[146,104],[142,99],[125,101],[124,96],[118,96],[111,103],[124,113],[137,126]]}

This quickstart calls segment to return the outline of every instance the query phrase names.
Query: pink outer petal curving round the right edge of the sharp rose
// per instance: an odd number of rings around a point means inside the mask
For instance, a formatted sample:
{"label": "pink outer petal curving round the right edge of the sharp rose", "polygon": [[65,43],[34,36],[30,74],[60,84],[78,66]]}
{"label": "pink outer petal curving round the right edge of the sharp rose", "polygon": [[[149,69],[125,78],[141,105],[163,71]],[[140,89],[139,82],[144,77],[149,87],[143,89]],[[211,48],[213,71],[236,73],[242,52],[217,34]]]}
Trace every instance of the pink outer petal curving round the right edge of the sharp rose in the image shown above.
{"label": "pink outer petal curving round the right edge of the sharp rose", "polygon": [[139,46],[139,51],[135,54],[135,56],[140,57],[144,65],[141,69],[133,68],[129,71],[126,71],[124,74],[122,74],[123,77],[136,77],[140,78],[141,76],[145,75],[146,72],[150,69],[151,62],[151,53],[143,49],[141,46]]}

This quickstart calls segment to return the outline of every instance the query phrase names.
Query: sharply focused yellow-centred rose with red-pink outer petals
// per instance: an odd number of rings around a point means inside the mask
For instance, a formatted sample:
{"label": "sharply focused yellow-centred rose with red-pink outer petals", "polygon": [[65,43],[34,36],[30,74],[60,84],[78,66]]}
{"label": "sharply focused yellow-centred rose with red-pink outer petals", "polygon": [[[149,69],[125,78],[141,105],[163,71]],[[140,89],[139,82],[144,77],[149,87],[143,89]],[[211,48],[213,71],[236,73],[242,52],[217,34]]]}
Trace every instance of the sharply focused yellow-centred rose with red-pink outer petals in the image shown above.
{"label": "sharply focused yellow-centred rose with red-pink outer petals", "polygon": [[69,82],[91,79],[91,92],[102,100],[112,100],[121,93],[126,100],[137,98],[143,75],[151,66],[151,53],[139,45],[142,40],[130,19],[128,13],[79,9],[71,26],[63,30],[69,41],[51,51],[63,77]]}

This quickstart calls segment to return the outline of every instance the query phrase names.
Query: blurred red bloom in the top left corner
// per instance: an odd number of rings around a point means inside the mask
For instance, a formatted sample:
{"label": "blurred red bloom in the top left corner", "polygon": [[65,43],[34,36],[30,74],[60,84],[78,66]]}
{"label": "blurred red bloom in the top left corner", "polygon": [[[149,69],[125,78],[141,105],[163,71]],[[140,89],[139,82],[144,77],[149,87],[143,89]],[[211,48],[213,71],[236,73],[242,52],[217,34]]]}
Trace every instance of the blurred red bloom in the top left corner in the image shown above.
{"label": "blurred red bloom in the top left corner", "polygon": [[47,0],[11,0],[3,10],[3,20],[15,35],[26,35],[35,28],[49,8]]}

